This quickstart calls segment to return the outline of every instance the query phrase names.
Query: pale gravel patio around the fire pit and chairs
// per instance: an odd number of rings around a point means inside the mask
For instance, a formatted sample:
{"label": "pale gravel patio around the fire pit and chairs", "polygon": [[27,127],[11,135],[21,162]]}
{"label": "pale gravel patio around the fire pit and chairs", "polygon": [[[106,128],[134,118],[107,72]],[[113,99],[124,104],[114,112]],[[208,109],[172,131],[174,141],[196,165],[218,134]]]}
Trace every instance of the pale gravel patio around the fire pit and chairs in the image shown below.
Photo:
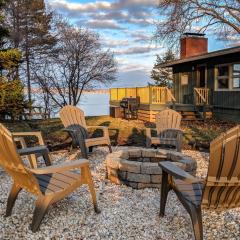
{"label": "pale gravel patio around the fire pit and chairs", "polygon": [[[174,193],[169,194],[166,216],[159,218],[158,189],[134,190],[105,180],[103,162],[107,153],[107,148],[99,147],[90,156],[101,214],[94,213],[84,186],[51,208],[35,234],[29,229],[34,198],[25,191],[20,193],[12,216],[4,217],[11,179],[0,172],[0,239],[193,239],[189,215]],[[197,160],[197,175],[205,177],[208,154],[183,153]],[[67,152],[55,153],[54,163],[66,156]],[[203,230],[204,239],[240,239],[240,209],[221,213],[203,210]]]}

